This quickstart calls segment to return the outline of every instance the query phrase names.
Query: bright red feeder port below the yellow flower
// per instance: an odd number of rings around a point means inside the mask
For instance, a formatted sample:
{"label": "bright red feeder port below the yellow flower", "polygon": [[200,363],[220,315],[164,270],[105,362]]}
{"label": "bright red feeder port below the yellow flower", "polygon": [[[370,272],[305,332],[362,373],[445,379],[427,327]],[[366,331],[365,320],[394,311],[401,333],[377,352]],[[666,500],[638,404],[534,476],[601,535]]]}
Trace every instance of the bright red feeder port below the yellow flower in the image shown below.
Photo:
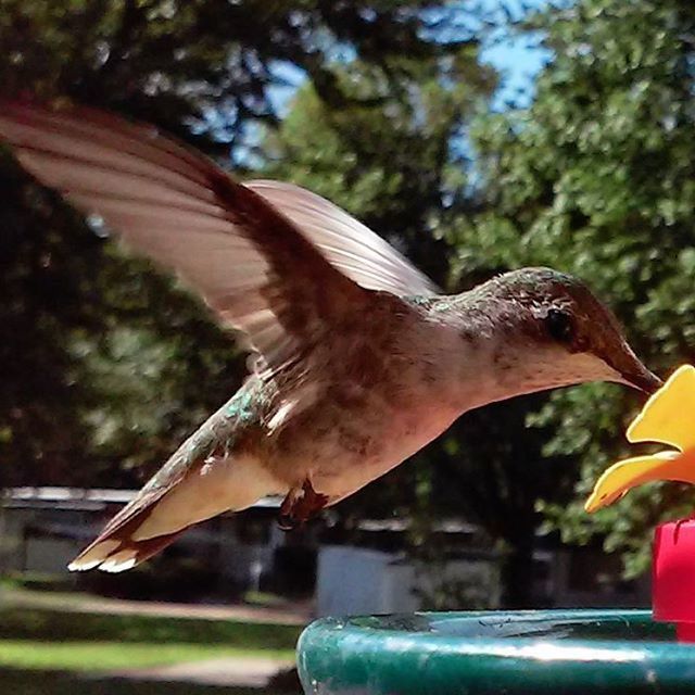
{"label": "bright red feeder port below the yellow flower", "polygon": [[675,623],[680,642],[695,642],[695,519],[657,527],[653,572],[654,619]]}

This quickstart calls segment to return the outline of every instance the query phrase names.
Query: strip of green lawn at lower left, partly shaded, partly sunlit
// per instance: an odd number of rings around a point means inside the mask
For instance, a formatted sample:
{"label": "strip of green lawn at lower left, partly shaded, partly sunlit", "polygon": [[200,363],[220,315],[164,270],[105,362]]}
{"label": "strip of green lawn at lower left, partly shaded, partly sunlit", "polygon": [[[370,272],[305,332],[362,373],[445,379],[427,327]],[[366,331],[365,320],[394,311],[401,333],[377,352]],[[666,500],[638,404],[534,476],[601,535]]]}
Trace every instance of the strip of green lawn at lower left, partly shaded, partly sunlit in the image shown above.
{"label": "strip of green lawn at lower left, partly shaded, partly sunlit", "polygon": [[98,672],[229,656],[291,660],[300,632],[298,626],[10,605],[0,607],[0,667]]}

